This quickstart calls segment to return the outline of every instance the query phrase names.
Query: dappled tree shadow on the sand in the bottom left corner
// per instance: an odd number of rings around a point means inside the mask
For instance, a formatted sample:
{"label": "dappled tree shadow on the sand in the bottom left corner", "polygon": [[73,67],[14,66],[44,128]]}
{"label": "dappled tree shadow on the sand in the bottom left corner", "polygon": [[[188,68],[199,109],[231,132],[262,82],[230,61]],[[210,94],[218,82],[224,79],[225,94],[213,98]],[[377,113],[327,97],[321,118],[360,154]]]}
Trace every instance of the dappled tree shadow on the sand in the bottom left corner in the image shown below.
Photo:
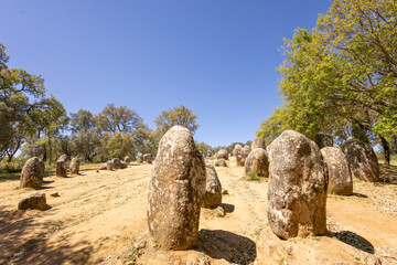
{"label": "dappled tree shadow on the sand in the bottom left corner", "polygon": [[[87,264],[98,246],[88,241],[67,243],[50,241],[51,234],[63,229],[63,224],[43,221],[41,216],[51,211],[4,210],[0,206],[0,264]],[[7,247],[6,247],[7,246]]]}

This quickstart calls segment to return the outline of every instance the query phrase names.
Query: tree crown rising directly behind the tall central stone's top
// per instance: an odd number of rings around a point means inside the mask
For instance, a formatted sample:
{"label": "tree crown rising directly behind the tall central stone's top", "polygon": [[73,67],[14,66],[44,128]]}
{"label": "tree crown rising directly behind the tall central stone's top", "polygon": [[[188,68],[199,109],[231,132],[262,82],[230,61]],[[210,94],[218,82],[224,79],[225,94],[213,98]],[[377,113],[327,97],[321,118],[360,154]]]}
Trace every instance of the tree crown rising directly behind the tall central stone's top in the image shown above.
{"label": "tree crown rising directly behind the tall central stone's top", "polygon": [[170,110],[163,110],[161,115],[155,118],[154,123],[157,131],[159,131],[161,136],[175,125],[183,126],[194,134],[198,128],[196,119],[197,115],[193,114],[192,109],[181,105]]}

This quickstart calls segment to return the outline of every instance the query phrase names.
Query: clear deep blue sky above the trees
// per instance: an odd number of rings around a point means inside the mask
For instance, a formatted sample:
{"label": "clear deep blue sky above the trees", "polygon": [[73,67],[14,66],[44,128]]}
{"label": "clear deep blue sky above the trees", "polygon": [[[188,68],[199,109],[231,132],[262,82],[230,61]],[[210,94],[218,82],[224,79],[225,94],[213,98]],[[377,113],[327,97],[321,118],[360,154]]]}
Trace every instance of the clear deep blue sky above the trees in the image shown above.
{"label": "clear deep blue sky above the trees", "polygon": [[313,28],[329,0],[1,0],[9,66],[41,74],[68,113],[107,104],[150,127],[164,109],[197,114],[194,138],[247,141],[280,106],[282,39]]}

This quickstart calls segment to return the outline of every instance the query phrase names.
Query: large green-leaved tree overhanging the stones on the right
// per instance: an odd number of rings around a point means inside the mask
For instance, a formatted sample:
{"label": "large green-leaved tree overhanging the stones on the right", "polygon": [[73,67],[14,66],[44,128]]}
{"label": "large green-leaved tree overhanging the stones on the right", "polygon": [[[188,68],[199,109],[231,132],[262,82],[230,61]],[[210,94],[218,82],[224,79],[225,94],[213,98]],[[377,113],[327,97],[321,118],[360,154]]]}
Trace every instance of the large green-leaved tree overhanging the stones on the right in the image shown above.
{"label": "large green-leaved tree overhanging the stones on the right", "polygon": [[[286,129],[329,132],[397,152],[397,6],[393,0],[334,0],[312,30],[285,40],[283,106],[260,124],[269,144]],[[391,148],[390,148],[391,146]]]}

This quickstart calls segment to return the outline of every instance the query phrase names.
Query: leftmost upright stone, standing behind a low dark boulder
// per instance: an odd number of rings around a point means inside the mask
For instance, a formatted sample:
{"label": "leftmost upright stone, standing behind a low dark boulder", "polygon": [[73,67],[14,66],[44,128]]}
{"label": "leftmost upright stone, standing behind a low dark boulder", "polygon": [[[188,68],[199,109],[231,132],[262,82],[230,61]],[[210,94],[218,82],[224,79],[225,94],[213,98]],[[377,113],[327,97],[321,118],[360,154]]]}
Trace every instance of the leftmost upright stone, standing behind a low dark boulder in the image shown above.
{"label": "leftmost upright stone, standing behind a low dark boulder", "polygon": [[22,168],[21,188],[39,189],[43,184],[43,166],[39,158],[29,159]]}

